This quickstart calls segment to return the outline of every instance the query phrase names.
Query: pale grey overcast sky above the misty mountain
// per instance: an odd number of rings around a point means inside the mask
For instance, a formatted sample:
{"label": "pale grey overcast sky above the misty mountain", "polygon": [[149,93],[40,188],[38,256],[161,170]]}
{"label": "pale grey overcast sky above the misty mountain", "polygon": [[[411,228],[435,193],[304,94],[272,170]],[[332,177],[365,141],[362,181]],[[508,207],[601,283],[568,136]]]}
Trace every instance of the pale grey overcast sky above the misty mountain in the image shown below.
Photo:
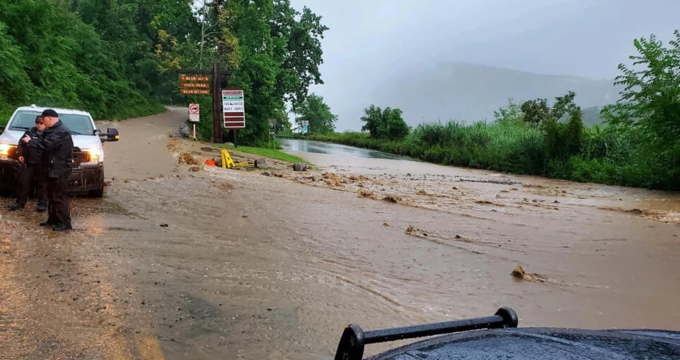
{"label": "pale grey overcast sky above the misty mountain", "polygon": [[[680,0],[291,0],[330,28],[325,82],[312,91],[339,115],[336,129],[359,130],[344,114],[363,108],[353,89],[373,88],[408,68],[464,61],[535,73],[614,78],[634,38],[664,40],[680,28]],[[380,106],[379,104],[376,104]]]}

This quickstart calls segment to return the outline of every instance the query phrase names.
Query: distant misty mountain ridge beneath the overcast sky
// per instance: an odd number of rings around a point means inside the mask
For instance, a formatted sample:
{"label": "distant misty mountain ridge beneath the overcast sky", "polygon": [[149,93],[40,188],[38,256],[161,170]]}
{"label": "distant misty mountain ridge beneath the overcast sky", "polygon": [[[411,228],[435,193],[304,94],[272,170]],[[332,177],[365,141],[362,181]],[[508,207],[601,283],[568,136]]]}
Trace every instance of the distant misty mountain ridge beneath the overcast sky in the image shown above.
{"label": "distant misty mountain ridge beneath the overcast sky", "polygon": [[[622,88],[614,80],[595,80],[517,71],[472,63],[442,62],[399,71],[369,91],[376,106],[401,108],[409,125],[441,120],[473,123],[493,121],[493,111],[508,104],[508,98],[554,101],[575,91],[582,108],[602,107],[619,99]],[[367,103],[366,106],[369,104]],[[353,109],[352,113],[356,110]],[[357,118],[361,117],[361,109]]]}

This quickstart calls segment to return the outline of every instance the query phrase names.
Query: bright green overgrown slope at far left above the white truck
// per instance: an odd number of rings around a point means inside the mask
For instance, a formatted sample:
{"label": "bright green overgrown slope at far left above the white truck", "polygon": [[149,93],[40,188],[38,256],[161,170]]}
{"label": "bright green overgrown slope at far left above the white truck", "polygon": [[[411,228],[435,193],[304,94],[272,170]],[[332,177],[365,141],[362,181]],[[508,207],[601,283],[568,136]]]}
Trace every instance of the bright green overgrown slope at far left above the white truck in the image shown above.
{"label": "bright green overgrown slope at far left above the white truck", "polygon": [[[0,1],[0,23],[12,24],[0,31],[7,45],[1,46],[0,53],[8,56],[8,66],[3,61],[2,67],[14,79],[14,84],[0,89],[0,99],[7,99],[6,105],[0,101],[0,106],[13,108],[31,102],[83,108],[96,118],[146,115],[161,109],[135,88],[110,43],[66,4]],[[125,33],[128,19],[120,19],[120,23]],[[19,64],[21,69],[16,67]]]}

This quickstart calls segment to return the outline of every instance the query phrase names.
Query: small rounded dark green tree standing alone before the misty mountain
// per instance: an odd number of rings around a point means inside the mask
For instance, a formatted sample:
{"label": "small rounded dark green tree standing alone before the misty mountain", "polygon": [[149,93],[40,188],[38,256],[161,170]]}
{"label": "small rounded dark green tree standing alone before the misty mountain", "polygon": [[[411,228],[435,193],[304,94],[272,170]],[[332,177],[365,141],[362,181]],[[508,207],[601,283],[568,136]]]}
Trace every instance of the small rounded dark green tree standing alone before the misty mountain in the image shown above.
{"label": "small rounded dark green tree standing alone before the misty mountain", "polygon": [[361,121],[365,124],[361,131],[368,131],[371,138],[401,140],[406,138],[411,128],[402,118],[403,112],[399,108],[385,108],[384,110],[371,104],[364,108]]}

